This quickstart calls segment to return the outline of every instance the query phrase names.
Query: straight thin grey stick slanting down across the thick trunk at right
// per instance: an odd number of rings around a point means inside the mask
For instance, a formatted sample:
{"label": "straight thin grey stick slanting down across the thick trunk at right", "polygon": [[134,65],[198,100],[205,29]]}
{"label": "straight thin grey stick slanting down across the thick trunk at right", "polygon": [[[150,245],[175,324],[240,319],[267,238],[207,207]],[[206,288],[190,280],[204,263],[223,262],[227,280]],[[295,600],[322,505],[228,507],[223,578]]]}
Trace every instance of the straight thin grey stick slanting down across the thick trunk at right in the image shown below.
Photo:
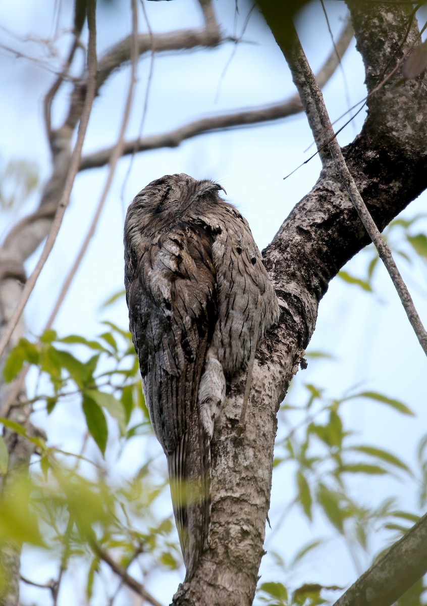
{"label": "straight thin grey stick slanting down across the thick trunk at right", "polygon": [[[289,46],[283,45],[282,51],[285,53],[286,61],[290,66],[294,82],[299,88],[299,93],[302,97],[302,104],[306,107],[307,118],[313,135],[317,139],[319,135],[321,138],[318,139],[317,145],[319,153],[321,153],[322,161],[328,161],[332,157],[334,164],[336,165],[340,179],[347,190],[349,198],[356,208],[357,214],[360,217],[366,231],[368,232],[369,238],[377,248],[378,254],[382,259],[386,270],[388,271],[394,287],[399,294],[400,301],[405,308],[406,315],[408,316],[409,322],[411,322],[412,328],[414,328],[415,335],[423,348],[424,353],[427,355],[427,332],[423,327],[420,317],[415,310],[414,303],[412,302],[411,295],[409,294],[408,288],[402,279],[402,276],[397,269],[396,263],[391,254],[391,250],[382,238],[380,230],[378,229],[374,219],[372,219],[371,213],[369,213],[362,196],[360,195],[357,185],[354,182],[353,177],[348,169],[345,162],[344,156],[340,148],[337,139],[333,136],[333,127],[329,119],[328,112],[323,101],[322,91],[316,82],[311,67],[308,64],[305,53],[300,44],[299,38],[296,31],[294,31],[294,40],[292,49]],[[323,139],[331,139],[328,142],[327,147],[323,147]]]}

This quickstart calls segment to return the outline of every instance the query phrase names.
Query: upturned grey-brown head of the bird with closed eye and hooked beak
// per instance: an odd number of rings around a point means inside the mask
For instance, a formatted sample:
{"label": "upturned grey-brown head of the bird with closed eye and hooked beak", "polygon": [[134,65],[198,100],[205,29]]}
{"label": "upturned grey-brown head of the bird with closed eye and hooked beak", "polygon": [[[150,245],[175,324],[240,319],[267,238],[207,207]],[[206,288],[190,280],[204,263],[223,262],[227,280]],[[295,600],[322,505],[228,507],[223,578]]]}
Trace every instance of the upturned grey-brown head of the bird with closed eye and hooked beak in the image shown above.
{"label": "upturned grey-brown head of the bird with closed eye and hooked beak", "polygon": [[167,230],[170,225],[196,216],[205,205],[219,201],[217,192],[225,191],[209,179],[197,181],[185,173],[165,175],[151,181],[131,202],[126,216],[125,233],[144,230],[154,236]]}

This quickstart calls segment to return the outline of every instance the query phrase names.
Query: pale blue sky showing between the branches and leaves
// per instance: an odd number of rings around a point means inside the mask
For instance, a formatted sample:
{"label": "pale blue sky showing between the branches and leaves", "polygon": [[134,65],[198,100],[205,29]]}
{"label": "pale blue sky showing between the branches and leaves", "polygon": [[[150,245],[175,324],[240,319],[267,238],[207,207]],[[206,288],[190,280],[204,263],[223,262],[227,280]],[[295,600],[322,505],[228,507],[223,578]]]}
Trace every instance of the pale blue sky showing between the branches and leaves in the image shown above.
{"label": "pale blue sky showing between the branches and leaves", "polygon": [[[124,8],[125,6],[125,8]],[[344,2],[326,0],[326,10],[334,36],[337,37],[346,17]],[[234,2],[216,0],[214,9],[223,28],[235,35],[242,33],[243,24],[251,5],[239,2],[239,15],[235,15]],[[72,5],[70,2],[39,0],[3,0],[0,5],[0,95],[2,127],[0,129],[0,162],[24,159],[35,162],[41,182],[48,178],[50,153],[45,140],[42,122],[42,99],[53,75],[42,67],[44,62],[61,65],[61,56],[70,36]],[[201,25],[200,10],[196,2],[145,2],[145,10],[153,32]],[[52,18],[52,15],[55,15]],[[130,13],[124,2],[99,5],[98,55],[114,42],[127,35]],[[139,8],[139,30],[147,30]],[[59,55],[50,56],[45,39],[59,33],[55,47]],[[299,20],[299,32],[306,55],[313,70],[323,64],[331,51],[328,26],[320,4],[310,5]],[[20,50],[37,61],[13,56],[5,47]],[[53,48],[53,44],[50,46]],[[256,11],[251,14],[242,41],[223,44],[215,49],[192,52],[167,53],[154,58],[145,56],[138,64],[138,81],[135,101],[127,136],[167,132],[200,116],[243,107],[270,104],[294,93],[286,63],[270,31]],[[149,81],[149,74],[152,76]],[[77,70],[76,70],[77,73]],[[352,42],[343,61],[323,93],[332,119],[345,112],[349,104],[359,102],[365,95],[363,65]],[[122,110],[129,79],[129,70],[115,73],[102,88],[91,115],[84,154],[111,145],[118,135]],[[147,94],[147,111],[144,114]],[[70,88],[65,86],[53,108],[54,126],[64,117],[64,101]],[[361,112],[339,135],[341,145],[354,139],[363,123]],[[125,158],[119,164],[113,186],[108,195],[104,213],[99,222],[90,250],[78,276],[62,305],[55,329],[60,335],[78,333],[97,335],[103,328],[100,322],[111,319],[127,328],[127,308],[124,299],[107,310],[102,304],[123,288],[122,226],[125,210],[137,191],[152,179],[167,173],[185,172],[195,178],[212,178],[227,190],[227,199],[239,208],[248,219],[260,248],[274,237],[282,221],[294,204],[307,193],[319,176],[320,162],[314,158],[300,167],[292,176],[283,177],[297,168],[313,153],[311,132],[304,115],[251,128],[239,128],[225,133],[211,133],[182,143],[178,148],[150,151]],[[309,148],[309,150],[308,150]],[[308,150],[308,151],[306,151]],[[107,176],[106,168],[85,171],[78,175],[71,204],[55,248],[31,295],[25,311],[28,331],[37,335],[50,314],[53,302],[67,275],[68,268],[84,239],[87,225]],[[40,192],[30,196],[13,211],[3,211],[0,217],[0,234],[6,235],[16,221],[36,208]],[[426,196],[406,209],[404,216],[425,211]],[[425,231],[425,222],[415,226],[414,233]],[[403,244],[402,244],[403,246]],[[27,262],[27,270],[35,265],[39,250]],[[366,264],[372,251],[364,251],[353,259],[346,270],[352,275],[366,273]],[[410,266],[399,262],[408,281],[415,305],[422,318],[427,318],[426,267],[422,262]],[[420,436],[424,435],[427,415],[425,402],[426,362],[415,335],[400,306],[397,294],[391,287],[388,275],[377,268],[374,293],[334,279],[328,293],[320,303],[316,331],[308,351],[325,351],[336,361],[311,361],[308,369],[300,371],[291,387],[288,398],[295,404],[305,399],[303,384],[324,387],[329,397],[341,396],[345,391],[372,390],[391,398],[401,399],[417,413],[414,421],[386,410],[379,404],[351,401],[345,408],[345,421],[352,430],[363,435],[363,442],[388,448],[408,464],[414,462],[414,452]],[[358,386],[357,388],[355,386]],[[42,425],[54,444],[78,448],[83,418],[79,411],[55,410],[46,417],[39,414]],[[284,427],[284,426],[283,426]],[[283,428],[282,427],[282,428]],[[279,425],[279,435],[281,427]],[[114,450],[114,444],[111,445]],[[134,441],[116,468],[126,473],[128,465],[137,461],[141,442]],[[278,528],[282,513],[283,491],[293,482],[291,470],[280,468],[273,479],[270,520],[273,530],[267,529],[266,545],[283,553],[285,559],[295,553],[304,542],[326,531],[325,521],[315,519],[309,525],[299,514],[292,514]],[[355,481],[355,493],[366,494],[369,499],[381,499],[388,490],[386,482]],[[402,489],[401,489],[402,490]],[[169,507],[165,504],[165,507]],[[414,494],[402,490],[402,507],[415,510]],[[275,527],[276,524],[276,527]],[[273,533],[273,534],[271,534]],[[270,537],[271,534],[271,537]],[[331,548],[322,558],[307,559],[300,570],[300,581],[340,583],[346,585],[357,576],[354,562],[339,539],[331,539]],[[374,545],[375,547],[375,545]],[[380,542],[377,548],[380,547]],[[369,558],[360,562],[362,572]],[[28,554],[24,564],[29,574],[35,561]],[[50,561],[41,557],[37,563],[40,579],[49,578]],[[271,559],[263,560],[261,573],[271,566]],[[75,571],[79,578],[79,571]],[[148,587],[164,604],[168,603],[182,570],[171,574],[167,582],[154,579]],[[293,579],[297,584],[297,580]],[[70,586],[71,587],[71,586]],[[63,591],[61,604],[79,604],[79,598]],[[24,603],[40,599],[31,588],[22,590]],[[66,597],[65,597],[66,596]],[[74,599],[75,598],[75,599]],[[101,599],[101,598],[100,598]],[[96,604],[93,601],[93,604]],[[102,599],[99,604],[102,604]]]}

